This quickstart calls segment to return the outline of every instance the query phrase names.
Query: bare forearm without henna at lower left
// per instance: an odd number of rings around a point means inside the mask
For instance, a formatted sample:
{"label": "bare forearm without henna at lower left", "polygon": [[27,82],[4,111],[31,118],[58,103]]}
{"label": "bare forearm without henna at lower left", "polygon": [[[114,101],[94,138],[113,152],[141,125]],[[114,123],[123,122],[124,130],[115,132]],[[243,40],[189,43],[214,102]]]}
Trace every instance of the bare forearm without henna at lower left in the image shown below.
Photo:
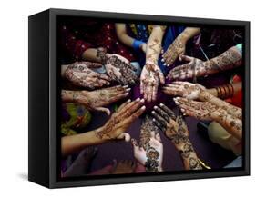
{"label": "bare forearm without henna at lower left", "polygon": [[65,157],[71,153],[77,153],[83,150],[87,146],[97,145],[100,143],[106,143],[106,140],[97,137],[97,132],[103,128],[100,127],[97,130],[87,133],[80,133],[61,138],[61,153]]}

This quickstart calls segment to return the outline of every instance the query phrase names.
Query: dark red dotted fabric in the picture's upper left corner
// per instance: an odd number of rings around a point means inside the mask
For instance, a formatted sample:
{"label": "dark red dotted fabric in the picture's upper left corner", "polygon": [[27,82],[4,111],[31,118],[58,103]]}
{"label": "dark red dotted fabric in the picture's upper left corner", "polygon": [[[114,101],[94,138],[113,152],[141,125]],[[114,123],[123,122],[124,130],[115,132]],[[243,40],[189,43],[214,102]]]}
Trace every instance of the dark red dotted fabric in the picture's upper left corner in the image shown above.
{"label": "dark red dotted fabric in the picture's upper left corner", "polygon": [[76,60],[88,48],[105,47],[110,54],[120,54],[129,61],[135,61],[132,49],[118,41],[114,23],[83,21],[60,26],[61,45]]}

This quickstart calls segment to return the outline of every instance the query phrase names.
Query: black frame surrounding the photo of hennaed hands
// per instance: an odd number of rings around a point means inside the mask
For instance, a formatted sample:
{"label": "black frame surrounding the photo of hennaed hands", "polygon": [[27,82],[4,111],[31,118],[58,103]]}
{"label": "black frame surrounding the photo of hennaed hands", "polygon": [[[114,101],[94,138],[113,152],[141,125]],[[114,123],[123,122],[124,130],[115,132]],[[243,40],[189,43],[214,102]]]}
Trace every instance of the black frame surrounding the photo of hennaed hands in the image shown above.
{"label": "black frame surrounding the photo of hennaed hands", "polygon": [[[58,100],[60,99],[59,69],[56,66],[56,23],[59,15],[86,16],[98,19],[141,20],[158,23],[186,25],[224,25],[244,29],[243,61],[243,167],[200,172],[160,172],[154,174],[91,176],[87,179],[59,180],[57,128]],[[28,130],[28,180],[48,188],[89,186],[132,182],[159,182],[250,175],[250,22],[217,20],[163,15],[134,15],[66,9],[48,9],[28,19],[29,46],[29,130]]]}

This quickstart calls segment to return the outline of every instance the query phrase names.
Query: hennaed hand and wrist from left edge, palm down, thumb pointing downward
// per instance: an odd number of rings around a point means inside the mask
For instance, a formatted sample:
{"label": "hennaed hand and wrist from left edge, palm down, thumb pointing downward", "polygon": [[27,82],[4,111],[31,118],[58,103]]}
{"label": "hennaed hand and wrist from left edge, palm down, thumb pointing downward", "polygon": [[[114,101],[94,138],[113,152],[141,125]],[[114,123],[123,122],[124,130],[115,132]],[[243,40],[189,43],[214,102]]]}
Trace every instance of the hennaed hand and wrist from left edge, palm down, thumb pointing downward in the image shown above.
{"label": "hennaed hand and wrist from left edge, palm down, thumb pointing downward", "polygon": [[115,103],[128,96],[130,88],[128,86],[114,86],[95,91],[62,91],[64,102],[80,103],[88,110],[105,112],[108,115],[110,111],[104,107],[110,103]]}

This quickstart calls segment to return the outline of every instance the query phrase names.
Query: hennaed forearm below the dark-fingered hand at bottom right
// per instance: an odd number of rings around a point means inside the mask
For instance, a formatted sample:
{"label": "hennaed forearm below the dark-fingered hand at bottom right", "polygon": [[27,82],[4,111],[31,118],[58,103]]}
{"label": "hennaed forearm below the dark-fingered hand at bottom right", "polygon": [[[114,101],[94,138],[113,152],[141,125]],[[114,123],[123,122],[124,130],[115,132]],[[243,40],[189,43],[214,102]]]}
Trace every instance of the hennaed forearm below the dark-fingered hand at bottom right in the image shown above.
{"label": "hennaed forearm below the dark-fingered hand at bottom right", "polygon": [[189,138],[184,141],[186,142],[174,143],[174,145],[179,151],[185,170],[202,169],[197,153],[194,151],[193,145],[190,143]]}

